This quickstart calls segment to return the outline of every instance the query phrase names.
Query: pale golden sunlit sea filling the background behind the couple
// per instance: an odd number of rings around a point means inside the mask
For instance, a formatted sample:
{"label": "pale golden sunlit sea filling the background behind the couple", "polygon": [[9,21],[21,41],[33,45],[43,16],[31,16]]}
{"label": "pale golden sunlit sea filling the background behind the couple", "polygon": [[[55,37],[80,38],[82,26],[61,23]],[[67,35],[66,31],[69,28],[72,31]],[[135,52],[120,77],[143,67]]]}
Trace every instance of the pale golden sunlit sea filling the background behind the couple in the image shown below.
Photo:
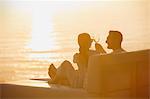
{"label": "pale golden sunlit sea filling the background behind the couple", "polygon": [[149,49],[149,8],[146,0],[0,2],[0,82],[47,78],[51,63],[72,62],[82,32],[108,53],[109,30],[122,32],[127,51]]}

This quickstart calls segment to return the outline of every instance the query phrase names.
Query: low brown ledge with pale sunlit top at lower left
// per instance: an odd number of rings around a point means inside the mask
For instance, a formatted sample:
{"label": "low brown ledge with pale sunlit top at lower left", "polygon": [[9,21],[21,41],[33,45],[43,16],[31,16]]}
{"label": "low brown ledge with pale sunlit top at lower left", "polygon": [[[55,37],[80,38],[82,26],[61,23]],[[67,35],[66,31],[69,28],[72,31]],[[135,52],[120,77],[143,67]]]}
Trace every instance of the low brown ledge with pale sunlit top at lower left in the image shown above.
{"label": "low brown ledge with pale sunlit top at lower left", "polygon": [[49,85],[45,81],[25,80],[1,84],[2,99],[86,99],[84,89]]}

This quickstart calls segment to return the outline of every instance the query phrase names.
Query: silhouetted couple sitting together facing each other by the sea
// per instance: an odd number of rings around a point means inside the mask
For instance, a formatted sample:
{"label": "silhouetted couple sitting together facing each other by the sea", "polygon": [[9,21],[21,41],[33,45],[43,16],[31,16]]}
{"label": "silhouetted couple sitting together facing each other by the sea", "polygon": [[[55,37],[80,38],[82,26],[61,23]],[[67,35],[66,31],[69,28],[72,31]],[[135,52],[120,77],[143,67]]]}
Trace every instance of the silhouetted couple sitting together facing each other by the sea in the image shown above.
{"label": "silhouetted couple sitting together facing each other by the sea", "polygon": [[[119,31],[109,31],[106,43],[107,48],[112,49],[112,53],[125,52],[121,43],[123,36]],[[48,74],[50,76],[49,84],[60,84],[71,87],[83,88],[86,83],[86,71],[88,68],[88,59],[91,55],[106,54],[104,48],[98,42],[95,42],[95,50],[90,50],[92,42],[88,33],[78,35],[79,52],[73,56],[73,62],[77,64],[78,70],[75,70],[71,62],[65,60],[58,68],[50,65]]]}

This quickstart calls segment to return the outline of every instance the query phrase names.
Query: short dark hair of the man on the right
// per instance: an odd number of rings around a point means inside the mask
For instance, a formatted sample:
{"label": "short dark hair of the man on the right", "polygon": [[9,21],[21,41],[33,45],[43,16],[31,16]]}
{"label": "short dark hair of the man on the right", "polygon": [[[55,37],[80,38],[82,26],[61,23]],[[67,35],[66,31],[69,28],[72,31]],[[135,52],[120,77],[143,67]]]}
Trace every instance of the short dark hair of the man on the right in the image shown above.
{"label": "short dark hair of the man on the right", "polygon": [[109,31],[109,35],[112,35],[114,39],[117,39],[118,41],[120,41],[120,43],[123,40],[123,36],[122,33],[120,31],[114,31],[114,30],[110,30]]}

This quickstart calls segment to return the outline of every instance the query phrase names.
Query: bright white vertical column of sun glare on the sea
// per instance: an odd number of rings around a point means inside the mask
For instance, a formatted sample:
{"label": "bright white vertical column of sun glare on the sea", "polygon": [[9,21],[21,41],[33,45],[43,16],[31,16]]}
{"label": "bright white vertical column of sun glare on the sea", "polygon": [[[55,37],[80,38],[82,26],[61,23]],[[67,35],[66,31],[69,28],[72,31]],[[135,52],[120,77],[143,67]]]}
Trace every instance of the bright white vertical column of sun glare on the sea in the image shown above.
{"label": "bright white vertical column of sun glare on the sea", "polygon": [[33,6],[31,41],[28,47],[34,51],[53,49],[55,41],[50,37],[52,31],[49,12],[41,6]]}

